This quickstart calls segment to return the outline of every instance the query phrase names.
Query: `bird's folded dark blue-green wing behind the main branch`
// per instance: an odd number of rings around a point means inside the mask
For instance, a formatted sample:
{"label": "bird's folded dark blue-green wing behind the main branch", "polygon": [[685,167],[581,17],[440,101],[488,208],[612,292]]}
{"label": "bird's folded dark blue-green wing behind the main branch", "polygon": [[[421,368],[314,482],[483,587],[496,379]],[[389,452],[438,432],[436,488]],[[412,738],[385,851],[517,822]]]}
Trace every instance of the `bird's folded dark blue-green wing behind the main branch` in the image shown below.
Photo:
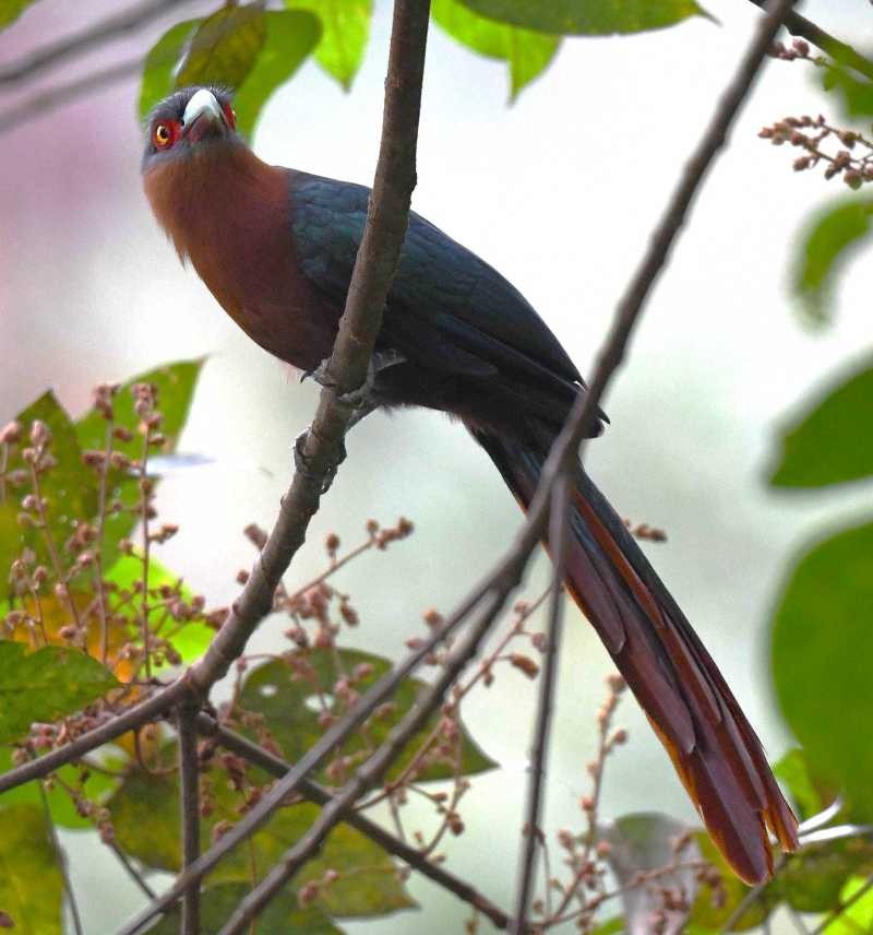
{"label": "bird's folded dark blue-green wing behind the main branch", "polygon": [[[303,273],[335,301],[348,291],[367,218],[363,186],[291,173]],[[575,394],[582,378],[558,339],[500,273],[415,212],[388,294],[383,336],[422,366],[512,372]],[[434,359],[436,356],[439,359]]]}

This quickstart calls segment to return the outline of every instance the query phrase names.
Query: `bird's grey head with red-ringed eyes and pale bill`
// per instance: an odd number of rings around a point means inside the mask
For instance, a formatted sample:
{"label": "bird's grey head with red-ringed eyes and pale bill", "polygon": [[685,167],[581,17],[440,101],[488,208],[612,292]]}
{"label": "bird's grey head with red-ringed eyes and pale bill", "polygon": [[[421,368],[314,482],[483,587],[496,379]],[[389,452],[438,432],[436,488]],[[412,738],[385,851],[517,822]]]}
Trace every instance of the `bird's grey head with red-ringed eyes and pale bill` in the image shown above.
{"label": "bird's grey head with red-ringed eyes and pale bill", "polygon": [[242,142],[230,95],[219,87],[186,87],[165,97],[148,115],[145,132],[143,175]]}

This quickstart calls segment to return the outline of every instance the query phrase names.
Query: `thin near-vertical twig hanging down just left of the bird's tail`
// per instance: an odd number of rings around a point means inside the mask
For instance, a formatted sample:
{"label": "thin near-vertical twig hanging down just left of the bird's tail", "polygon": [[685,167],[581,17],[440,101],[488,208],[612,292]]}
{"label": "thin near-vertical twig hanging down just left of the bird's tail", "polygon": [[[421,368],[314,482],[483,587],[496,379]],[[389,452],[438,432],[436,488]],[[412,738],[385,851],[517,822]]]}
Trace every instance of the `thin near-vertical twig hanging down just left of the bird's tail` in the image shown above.
{"label": "thin near-vertical twig hanging down just left of the bird's tail", "polygon": [[527,809],[523,831],[524,848],[515,903],[513,935],[524,935],[527,930],[527,907],[534,887],[537,843],[540,839],[540,813],[542,810],[546,759],[549,750],[549,733],[554,706],[554,684],[558,678],[558,660],[561,643],[561,623],[564,606],[563,570],[566,561],[567,532],[570,520],[570,485],[572,475],[563,471],[552,488],[550,511],[549,546],[552,554],[552,584],[549,601],[549,624],[546,637],[546,659],[539,683],[537,723],[534,733],[534,753],[530,780],[527,790]]}

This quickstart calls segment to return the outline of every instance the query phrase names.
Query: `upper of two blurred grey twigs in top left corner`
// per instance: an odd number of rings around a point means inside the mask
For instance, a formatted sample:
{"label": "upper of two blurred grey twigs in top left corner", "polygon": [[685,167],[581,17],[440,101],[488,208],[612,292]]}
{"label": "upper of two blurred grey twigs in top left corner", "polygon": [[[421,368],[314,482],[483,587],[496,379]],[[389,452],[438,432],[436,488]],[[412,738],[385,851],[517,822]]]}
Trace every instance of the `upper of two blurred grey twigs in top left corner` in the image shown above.
{"label": "upper of two blurred grey twigs in top left corner", "polygon": [[164,13],[190,2],[191,0],[143,0],[135,7],[108,16],[77,33],[48,43],[43,48],[22,56],[17,61],[0,66],[0,84],[19,84],[32,79],[40,71],[82,56],[96,46],[139,29]]}

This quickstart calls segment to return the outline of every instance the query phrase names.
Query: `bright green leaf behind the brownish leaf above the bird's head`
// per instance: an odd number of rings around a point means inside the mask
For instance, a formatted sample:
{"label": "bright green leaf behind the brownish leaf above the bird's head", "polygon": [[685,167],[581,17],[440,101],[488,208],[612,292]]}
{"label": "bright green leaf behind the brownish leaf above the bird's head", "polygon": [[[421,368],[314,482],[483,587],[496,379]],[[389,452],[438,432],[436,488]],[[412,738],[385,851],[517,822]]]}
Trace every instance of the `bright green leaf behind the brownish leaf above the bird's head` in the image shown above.
{"label": "bright green leaf behind the brownish leaf above the bird's head", "polygon": [[[181,86],[175,80],[175,66],[201,22],[187,20],[178,23],[157,40],[146,56],[140,90],[141,119],[162,98]],[[321,38],[321,24],[311,13],[297,10],[267,12],[263,14],[263,44],[234,96],[237,130],[244,137],[252,135],[270,95],[297,71]]]}

